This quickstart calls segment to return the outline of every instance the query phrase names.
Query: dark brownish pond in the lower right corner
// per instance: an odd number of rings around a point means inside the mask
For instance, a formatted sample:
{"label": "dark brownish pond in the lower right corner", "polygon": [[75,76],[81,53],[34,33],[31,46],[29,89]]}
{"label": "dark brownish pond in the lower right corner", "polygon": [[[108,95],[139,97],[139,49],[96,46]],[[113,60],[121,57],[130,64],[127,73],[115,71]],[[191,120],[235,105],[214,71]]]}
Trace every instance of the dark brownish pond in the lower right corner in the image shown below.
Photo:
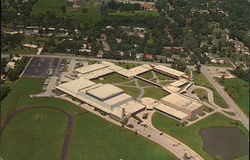
{"label": "dark brownish pond in the lower right corner", "polygon": [[215,127],[201,130],[203,149],[212,157],[233,160],[249,155],[247,136],[237,128]]}

